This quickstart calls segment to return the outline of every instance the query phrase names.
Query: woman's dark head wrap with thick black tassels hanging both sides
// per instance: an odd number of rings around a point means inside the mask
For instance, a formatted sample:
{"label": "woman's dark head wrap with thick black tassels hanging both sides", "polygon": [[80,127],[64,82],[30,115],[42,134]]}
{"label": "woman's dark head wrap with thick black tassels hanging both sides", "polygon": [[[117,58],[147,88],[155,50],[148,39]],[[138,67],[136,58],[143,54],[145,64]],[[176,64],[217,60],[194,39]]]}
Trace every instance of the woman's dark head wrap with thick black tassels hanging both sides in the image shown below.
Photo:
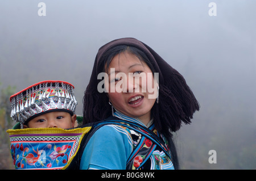
{"label": "woman's dark head wrap with thick black tassels hanging both sides", "polygon": [[104,70],[106,52],[119,45],[142,50],[151,62],[154,71],[159,73],[159,104],[155,103],[151,111],[154,112],[152,116],[158,131],[164,133],[171,129],[175,132],[180,128],[181,121],[185,124],[191,123],[193,113],[199,110],[199,103],[183,76],[154,50],[134,38],[113,40],[98,50],[84,95],[84,123],[106,119],[112,113],[106,93],[97,91],[97,85],[101,81],[97,79],[97,75]]}

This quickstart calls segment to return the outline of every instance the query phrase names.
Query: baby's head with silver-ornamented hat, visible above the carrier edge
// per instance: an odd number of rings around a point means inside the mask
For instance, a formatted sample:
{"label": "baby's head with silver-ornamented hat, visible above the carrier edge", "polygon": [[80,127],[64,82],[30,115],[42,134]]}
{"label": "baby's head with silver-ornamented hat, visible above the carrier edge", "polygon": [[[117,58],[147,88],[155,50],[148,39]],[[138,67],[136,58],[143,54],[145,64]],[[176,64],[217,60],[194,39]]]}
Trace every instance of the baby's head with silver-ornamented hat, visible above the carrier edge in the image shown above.
{"label": "baby's head with silver-ornamented hat, visible above the carrier edge", "polygon": [[71,83],[43,81],[12,95],[11,117],[20,128],[74,128],[77,101]]}

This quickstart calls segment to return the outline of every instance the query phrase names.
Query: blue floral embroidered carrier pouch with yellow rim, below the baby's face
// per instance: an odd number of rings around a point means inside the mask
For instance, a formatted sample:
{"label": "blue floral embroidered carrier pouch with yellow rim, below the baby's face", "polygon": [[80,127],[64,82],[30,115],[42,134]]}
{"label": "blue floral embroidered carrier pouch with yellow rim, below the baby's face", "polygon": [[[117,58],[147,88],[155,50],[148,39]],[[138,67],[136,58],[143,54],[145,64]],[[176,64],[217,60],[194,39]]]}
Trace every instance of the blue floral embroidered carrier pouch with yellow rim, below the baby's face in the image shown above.
{"label": "blue floral embroidered carrier pouch with yellow rim, below the baby's face", "polygon": [[63,169],[75,157],[82,137],[90,128],[75,132],[61,129],[60,133],[54,133],[54,129],[60,128],[50,128],[50,133],[49,128],[39,129],[45,132],[27,133],[28,129],[20,129],[22,132],[10,134],[15,169]]}

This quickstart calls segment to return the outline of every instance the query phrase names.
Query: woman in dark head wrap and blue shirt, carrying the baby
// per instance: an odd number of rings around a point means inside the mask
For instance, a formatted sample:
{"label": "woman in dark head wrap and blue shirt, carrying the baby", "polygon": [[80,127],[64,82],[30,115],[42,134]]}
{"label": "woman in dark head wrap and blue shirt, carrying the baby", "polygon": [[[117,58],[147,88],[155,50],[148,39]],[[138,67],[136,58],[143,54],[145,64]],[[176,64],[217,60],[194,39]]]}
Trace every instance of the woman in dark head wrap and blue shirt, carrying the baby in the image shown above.
{"label": "woman in dark head wrap and blue shirt, carrying the baby", "polygon": [[172,132],[196,110],[182,75],[154,50],[133,38],[109,42],[97,53],[83,113],[84,124],[116,122],[93,133],[80,169],[179,169]]}

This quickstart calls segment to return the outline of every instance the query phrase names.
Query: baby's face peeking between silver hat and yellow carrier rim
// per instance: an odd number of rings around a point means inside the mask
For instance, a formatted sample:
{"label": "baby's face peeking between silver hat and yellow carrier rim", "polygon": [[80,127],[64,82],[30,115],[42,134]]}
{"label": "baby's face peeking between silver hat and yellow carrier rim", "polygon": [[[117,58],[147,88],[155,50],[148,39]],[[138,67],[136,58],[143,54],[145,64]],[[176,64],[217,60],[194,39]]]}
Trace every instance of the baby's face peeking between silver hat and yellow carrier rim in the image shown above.
{"label": "baby's face peeking between silver hat and yellow carrier rim", "polygon": [[76,121],[76,115],[64,111],[54,111],[36,116],[30,120],[24,128],[73,128]]}

